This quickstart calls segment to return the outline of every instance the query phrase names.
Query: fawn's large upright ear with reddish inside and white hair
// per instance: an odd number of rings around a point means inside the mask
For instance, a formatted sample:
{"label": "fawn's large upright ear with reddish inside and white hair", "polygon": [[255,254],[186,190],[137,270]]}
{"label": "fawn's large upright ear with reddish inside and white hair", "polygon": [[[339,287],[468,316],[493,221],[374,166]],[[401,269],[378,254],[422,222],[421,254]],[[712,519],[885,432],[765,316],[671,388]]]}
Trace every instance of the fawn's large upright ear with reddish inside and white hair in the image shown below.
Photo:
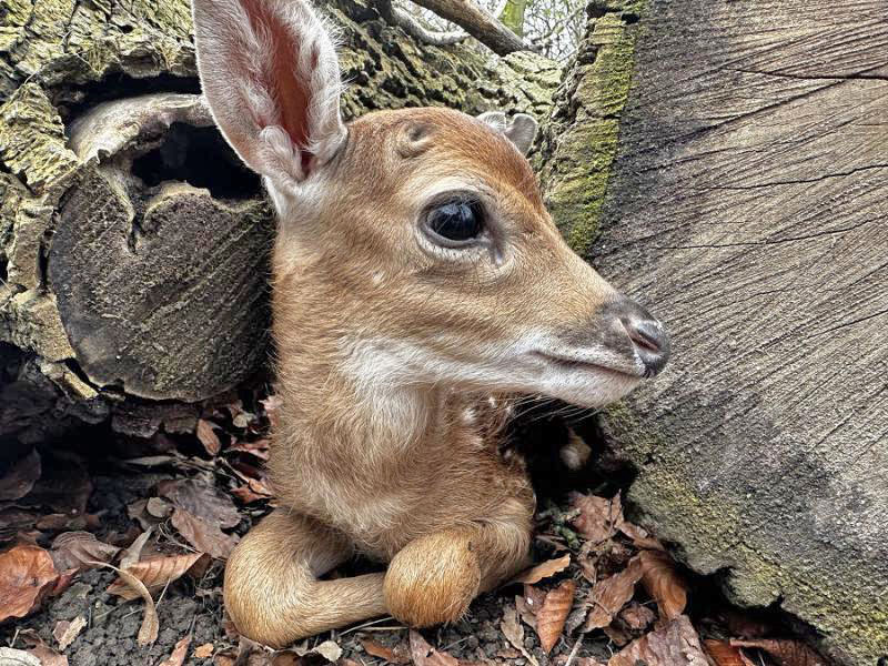
{"label": "fawn's large upright ear with reddish inside and white hair", "polygon": [[219,129],[279,184],[304,181],[345,141],[340,67],[304,0],[193,0],[198,70]]}

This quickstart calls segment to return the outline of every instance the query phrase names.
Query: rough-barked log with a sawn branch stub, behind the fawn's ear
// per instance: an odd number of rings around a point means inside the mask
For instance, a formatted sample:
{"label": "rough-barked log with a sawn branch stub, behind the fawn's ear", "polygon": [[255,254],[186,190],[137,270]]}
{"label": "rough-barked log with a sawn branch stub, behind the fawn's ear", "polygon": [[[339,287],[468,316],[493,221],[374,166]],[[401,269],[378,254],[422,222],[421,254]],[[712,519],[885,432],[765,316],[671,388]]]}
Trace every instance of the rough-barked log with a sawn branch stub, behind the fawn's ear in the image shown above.
{"label": "rough-barked log with a sawn branch stub, behind the fawn's ear", "polygon": [[[30,4],[0,0],[0,437],[188,430],[189,403],[264,365],[271,209],[198,95],[188,0]],[[350,118],[548,115],[561,70],[542,57],[420,46],[365,0],[325,9]]]}

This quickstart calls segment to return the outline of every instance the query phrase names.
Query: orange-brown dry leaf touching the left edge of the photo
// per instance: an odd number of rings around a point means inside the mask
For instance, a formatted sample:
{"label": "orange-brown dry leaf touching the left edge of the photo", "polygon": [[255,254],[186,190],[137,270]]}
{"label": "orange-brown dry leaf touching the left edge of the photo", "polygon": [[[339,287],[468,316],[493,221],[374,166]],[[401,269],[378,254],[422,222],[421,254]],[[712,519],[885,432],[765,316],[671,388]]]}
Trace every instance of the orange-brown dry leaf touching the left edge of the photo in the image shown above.
{"label": "orange-brown dry leaf touching the left edge of the photo", "polygon": [[52,557],[39,546],[0,553],[0,622],[28,615],[58,579]]}

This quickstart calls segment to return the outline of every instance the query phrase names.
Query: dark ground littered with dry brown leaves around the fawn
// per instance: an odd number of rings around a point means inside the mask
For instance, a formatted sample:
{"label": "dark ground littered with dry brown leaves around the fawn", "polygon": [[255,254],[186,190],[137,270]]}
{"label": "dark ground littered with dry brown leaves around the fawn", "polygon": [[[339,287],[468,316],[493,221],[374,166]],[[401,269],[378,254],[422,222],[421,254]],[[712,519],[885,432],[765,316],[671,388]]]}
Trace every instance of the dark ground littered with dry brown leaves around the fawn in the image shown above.
{"label": "dark ground littered with dry brown leaves around the fawn", "polygon": [[386,617],[287,650],[253,644],[226,619],[221,585],[224,558],[273,506],[262,465],[274,406],[244,392],[205,407],[196,436],[93,428],[0,467],[0,666],[827,664],[781,617],[731,607],[629,522],[632,474],[594,431],[586,468],[564,467],[573,431],[545,410],[511,434],[533,452],[538,495],[539,564],[521,581],[436,629]]}

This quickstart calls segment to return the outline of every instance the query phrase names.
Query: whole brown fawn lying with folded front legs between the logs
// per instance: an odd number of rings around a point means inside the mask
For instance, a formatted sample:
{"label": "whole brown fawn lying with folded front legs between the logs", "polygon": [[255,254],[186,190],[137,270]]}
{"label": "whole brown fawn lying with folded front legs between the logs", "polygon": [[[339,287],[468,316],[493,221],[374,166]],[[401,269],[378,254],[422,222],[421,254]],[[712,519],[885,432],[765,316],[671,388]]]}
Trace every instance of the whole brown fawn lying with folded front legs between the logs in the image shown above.
{"label": "whole brown fawn lying with folded front legs between the logs", "polygon": [[[203,91],[279,215],[280,507],[231,556],[226,608],[272,646],[374,616],[458,618],[526,564],[534,493],[480,394],[617,400],[668,339],[558,234],[524,154],[536,123],[340,112],[303,0],[194,0]],[[321,576],[361,553],[387,571]]]}

